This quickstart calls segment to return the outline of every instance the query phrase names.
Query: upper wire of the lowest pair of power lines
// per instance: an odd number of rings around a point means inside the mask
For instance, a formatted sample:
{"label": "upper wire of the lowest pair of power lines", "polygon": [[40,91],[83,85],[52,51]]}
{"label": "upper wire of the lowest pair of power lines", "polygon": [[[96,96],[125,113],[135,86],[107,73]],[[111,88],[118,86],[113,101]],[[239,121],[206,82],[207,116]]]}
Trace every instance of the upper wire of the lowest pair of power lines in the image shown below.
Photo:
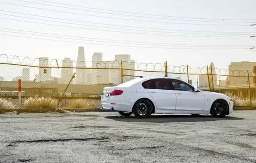
{"label": "upper wire of the lowest pair of power lines", "polygon": [[[11,28],[2,28],[6,30],[16,30]],[[81,36],[69,36],[69,35],[60,35],[60,34],[53,34],[53,33],[42,33],[42,32],[34,32],[28,30],[17,30],[22,32],[30,32],[30,33],[40,33],[40,34],[49,34],[55,36],[66,36],[66,37],[76,37],[76,38],[83,38],[83,39],[98,39],[98,38],[90,38],[90,37],[81,37]],[[164,45],[195,45],[195,46],[255,46],[255,45],[198,45],[198,44],[171,44],[171,43],[159,43],[159,42],[137,42],[137,41],[124,41],[124,40],[115,40],[115,39],[99,39],[99,40],[107,40],[107,41],[119,41],[119,42],[136,42],[136,43],[146,43],[146,44],[164,44]],[[116,42],[117,43],[117,42]]]}

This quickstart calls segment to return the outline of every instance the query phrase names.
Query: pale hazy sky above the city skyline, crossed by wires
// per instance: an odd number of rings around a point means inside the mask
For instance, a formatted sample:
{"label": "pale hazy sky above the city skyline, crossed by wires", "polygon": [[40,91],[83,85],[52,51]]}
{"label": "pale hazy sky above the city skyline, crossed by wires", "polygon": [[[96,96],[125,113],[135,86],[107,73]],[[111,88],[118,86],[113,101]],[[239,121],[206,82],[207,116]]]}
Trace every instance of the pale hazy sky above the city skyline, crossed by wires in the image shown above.
{"label": "pale hazy sky above the city skyline, crossed by wires", "polygon": [[[44,3],[56,6],[64,6],[60,4],[47,3],[38,0],[27,0],[30,2]],[[58,3],[67,3],[77,6],[85,6],[99,9],[118,10],[123,12],[136,12],[145,13],[152,15],[168,15],[175,17],[192,17],[192,18],[211,18],[211,19],[256,19],[256,1],[255,0],[49,0]],[[242,23],[215,23],[215,22],[201,22],[201,21],[177,21],[167,19],[154,19],[154,18],[140,18],[133,16],[114,15],[98,12],[88,12],[74,9],[64,9],[53,6],[45,6],[40,4],[33,4],[22,2],[18,0],[0,0],[4,3],[13,3],[24,6],[32,6],[44,9],[52,9],[65,12],[75,12],[88,15],[100,15],[114,18],[127,18],[137,19],[146,21],[165,21],[165,22],[176,22],[176,23],[195,23],[195,24],[242,24]],[[146,22],[146,21],[131,21],[131,20],[120,20],[113,18],[101,18],[95,16],[78,15],[70,13],[61,13],[54,11],[46,11],[42,9],[33,9],[22,6],[13,6],[9,4],[0,3],[0,10],[7,10],[11,12],[20,12],[25,14],[41,15],[54,18],[71,19],[76,21],[87,21],[102,24],[114,24],[122,26],[132,27],[146,27],[146,28],[160,28],[160,29],[171,29],[171,30],[195,30],[195,31],[217,31],[217,32],[251,32],[247,33],[246,36],[252,36],[256,34],[256,29],[250,26],[217,26],[217,25],[192,25],[192,24],[170,24],[170,23],[157,23],[157,22]],[[72,7],[72,6],[65,6]],[[86,9],[73,7],[76,9]],[[108,12],[96,9],[86,9],[93,11]],[[16,30],[27,30],[41,33],[54,33],[59,35],[69,36],[80,36],[97,39],[113,39],[113,40],[124,40],[124,41],[137,41],[137,42],[158,42],[158,43],[171,43],[171,44],[198,44],[198,45],[256,45],[256,41],[250,39],[250,37],[187,37],[187,36],[160,36],[160,35],[147,35],[147,34],[134,34],[134,33],[119,33],[109,32],[100,30],[88,30],[78,29],[71,27],[58,27],[45,24],[34,24],[29,22],[21,22],[14,20],[7,20],[2,18],[11,18],[24,21],[34,21],[47,24],[59,24],[64,26],[92,28],[101,30],[116,30],[126,31],[135,33],[155,33],[165,35],[186,35],[179,33],[156,33],[156,32],[143,32],[135,30],[119,30],[103,27],[90,27],[75,24],[63,24],[57,22],[33,20],[27,18],[18,18],[8,15],[18,15],[30,18],[40,18],[30,15],[21,15],[18,13],[11,13],[0,11],[0,27],[10,28]],[[127,14],[114,12],[119,14]],[[8,14],[8,15],[1,15]],[[134,14],[127,14],[134,15]],[[146,16],[146,15],[140,15]],[[156,16],[152,16],[156,17]],[[170,17],[158,17],[158,18],[170,18]],[[52,18],[40,18],[52,21],[63,21],[77,24],[87,25],[98,25],[104,27],[115,27],[101,24],[90,24],[83,22],[64,21]],[[189,20],[204,20],[204,21],[217,21],[209,19],[189,19]],[[256,21],[256,20],[255,20]],[[255,21],[246,21],[253,24]],[[240,21],[241,22],[241,21]],[[254,23],[255,24],[255,23]],[[256,26],[254,26],[256,27]],[[150,29],[138,29],[131,27],[117,27],[126,29],[137,29],[137,30],[150,30]],[[6,29],[0,29],[6,30]],[[14,31],[14,30],[8,30]],[[182,31],[170,31],[170,30],[158,30],[165,32],[182,32]],[[14,31],[18,32],[18,31]],[[21,32],[21,31],[20,31]],[[21,32],[28,33],[28,32]],[[185,32],[186,33],[186,32]],[[192,32],[188,32],[192,33]],[[196,32],[193,32],[196,33]],[[149,45],[129,45],[129,44],[114,44],[107,42],[90,42],[82,40],[70,40],[51,38],[43,36],[32,36],[18,33],[8,33],[0,31],[0,34],[10,34],[16,36],[28,36],[46,39],[57,39],[74,42],[88,42],[98,44],[112,44],[112,45],[128,45],[128,46],[147,46]],[[34,33],[38,34],[38,33]],[[222,33],[223,34],[223,33]],[[243,34],[243,33],[238,33]],[[43,35],[43,34],[40,34]],[[190,34],[191,35],[191,34]],[[195,34],[194,34],[195,35]],[[196,35],[198,36],[198,35]],[[200,35],[203,36],[203,35]],[[209,35],[208,35],[209,36]],[[218,35],[223,36],[223,35]],[[230,36],[230,35],[229,35]],[[240,35],[241,36],[241,35]],[[61,36],[58,36],[61,37]],[[82,39],[82,38],[81,38]],[[91,39],[92,40],[92,39]],[[130,42],[131,43],[131,42]],[[136,62],[152,62],[152,63],[164,63],[168,62],[168,65],[190,65],[190,66],[206,66],[212,61],[215,67],[228,68],[230,62],[241,62],[241,61],[256,61],[256,52],[250,51],[249,49],[228,49],[228,50],[196,50],[196,49],[164,49],[164,48],[134,48],[134,47],[121,47],[121,46],[107,46],[107,45],[90,45],[85,43],[70,43],[70,42],[56,42],[49,40],[38,40],[29,38],[19,38],[13,36],[0,35],[0,54],[7,55],[18,55],[28,57],[49,57],[64,59],[64,57],[70,57],[72,60],[76,60],[77,51],[79,46],[85,47],[85,60],[91,61],[91,56],[94,52],[102,52],[103,60],[114,60],[115,54],[130,54],[131,59]],[[154,47],[154,46],[151,46]],[[155,46],[160,47],[160,46]],[[251,46],[253,47],[253,46]],[[186,47],[167,47],[165,48],[186,48]],[[254,49],[255,50],[255,49]],[[256,51],[256,50],[255,50]]]}

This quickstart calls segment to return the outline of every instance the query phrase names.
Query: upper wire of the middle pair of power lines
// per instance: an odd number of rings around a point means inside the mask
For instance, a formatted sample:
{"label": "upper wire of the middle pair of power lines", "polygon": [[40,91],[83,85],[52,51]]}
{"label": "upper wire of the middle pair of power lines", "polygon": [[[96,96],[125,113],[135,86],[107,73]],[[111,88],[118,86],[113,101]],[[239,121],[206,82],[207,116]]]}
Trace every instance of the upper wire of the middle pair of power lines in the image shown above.
{"label": "upper wire of the middle pair of power lines", "polygon": [[[1,10],[3,12],[11,12],[6,10]],[[43,17],[43,18],[52,18],[52,19],[59,19],[59,20],[66,20],[66,21],[76,21],[76,20],[70,20],[70,19],[62,19],[62,18],[54,18],[54,17],[48,17],[48,16],[41,16],[41,15],[33,15],[33,14],[24,14],[21,12],[11,12],[16,14],[22,14],[22,15],[30,15],[30,16],[37,16],[37,17]],[[7,14],[2,14],[7,15]],[[16,16],[16,15],[11,15]],[[76,22],[83,22],[83,23],[91,23],[91,24],[101,24],[101,25],[111,25],[111,26],[118,26],[118,27],[132,27],[132,26],[124,26],[124,25],[114,25],[114,24],[103,24],[103,23],[93,23],[88,21],[76,21]],[[152,30],[170,30],[170,29],[159,29],[159,28],[147,28],[147,27],[132,27],[132,28],[142,28],[142,29],[152,29]],[[183,32],[207,32],[207,33],[253,33],[253,32],[216,32],[216,31],[197,31],[197,30],[173,30],[173,31],[183,31]],[[207,34],[205,33],[205,34]]]}

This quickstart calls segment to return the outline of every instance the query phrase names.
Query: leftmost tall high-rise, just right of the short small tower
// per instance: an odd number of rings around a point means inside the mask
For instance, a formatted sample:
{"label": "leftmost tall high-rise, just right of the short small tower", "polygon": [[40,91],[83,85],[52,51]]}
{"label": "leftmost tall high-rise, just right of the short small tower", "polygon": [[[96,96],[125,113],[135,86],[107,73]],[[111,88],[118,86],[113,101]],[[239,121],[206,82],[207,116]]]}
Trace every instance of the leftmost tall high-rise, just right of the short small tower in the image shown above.
{"label": "leftmost tall high-rise, just right of the short small tower", "polygon": [[[39,66],[48,67],[49,66],[49,60],[48,57],[40,57],[39,58]],[[51,68],[39,68],[39,81],[50,81],[51,78],[52,69]]]}

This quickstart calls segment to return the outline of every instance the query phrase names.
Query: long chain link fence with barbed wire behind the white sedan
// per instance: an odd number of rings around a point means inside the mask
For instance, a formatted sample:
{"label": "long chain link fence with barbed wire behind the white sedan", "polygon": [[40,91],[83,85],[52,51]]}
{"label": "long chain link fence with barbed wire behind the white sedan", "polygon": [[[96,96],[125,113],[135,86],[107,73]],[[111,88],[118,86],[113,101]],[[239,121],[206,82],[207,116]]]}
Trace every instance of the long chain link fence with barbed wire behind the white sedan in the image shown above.
{"label": "long chain link fence with barbed wire behind the white sedan", "polygon": [[13,57],[11,61],[0,60],[0,99],[18,107],[18,79],[21,79],[21,108],[36,107],[36,104],[37,107],[98,108],[104,87],[140,77],[170,77],[189,82],[200,90],[227,94],[235,106],[256,106],[253,76],[252,72],[212,66],[168,66],[167,62],[76,63],[43,58],[23,58],[21,61]]}

